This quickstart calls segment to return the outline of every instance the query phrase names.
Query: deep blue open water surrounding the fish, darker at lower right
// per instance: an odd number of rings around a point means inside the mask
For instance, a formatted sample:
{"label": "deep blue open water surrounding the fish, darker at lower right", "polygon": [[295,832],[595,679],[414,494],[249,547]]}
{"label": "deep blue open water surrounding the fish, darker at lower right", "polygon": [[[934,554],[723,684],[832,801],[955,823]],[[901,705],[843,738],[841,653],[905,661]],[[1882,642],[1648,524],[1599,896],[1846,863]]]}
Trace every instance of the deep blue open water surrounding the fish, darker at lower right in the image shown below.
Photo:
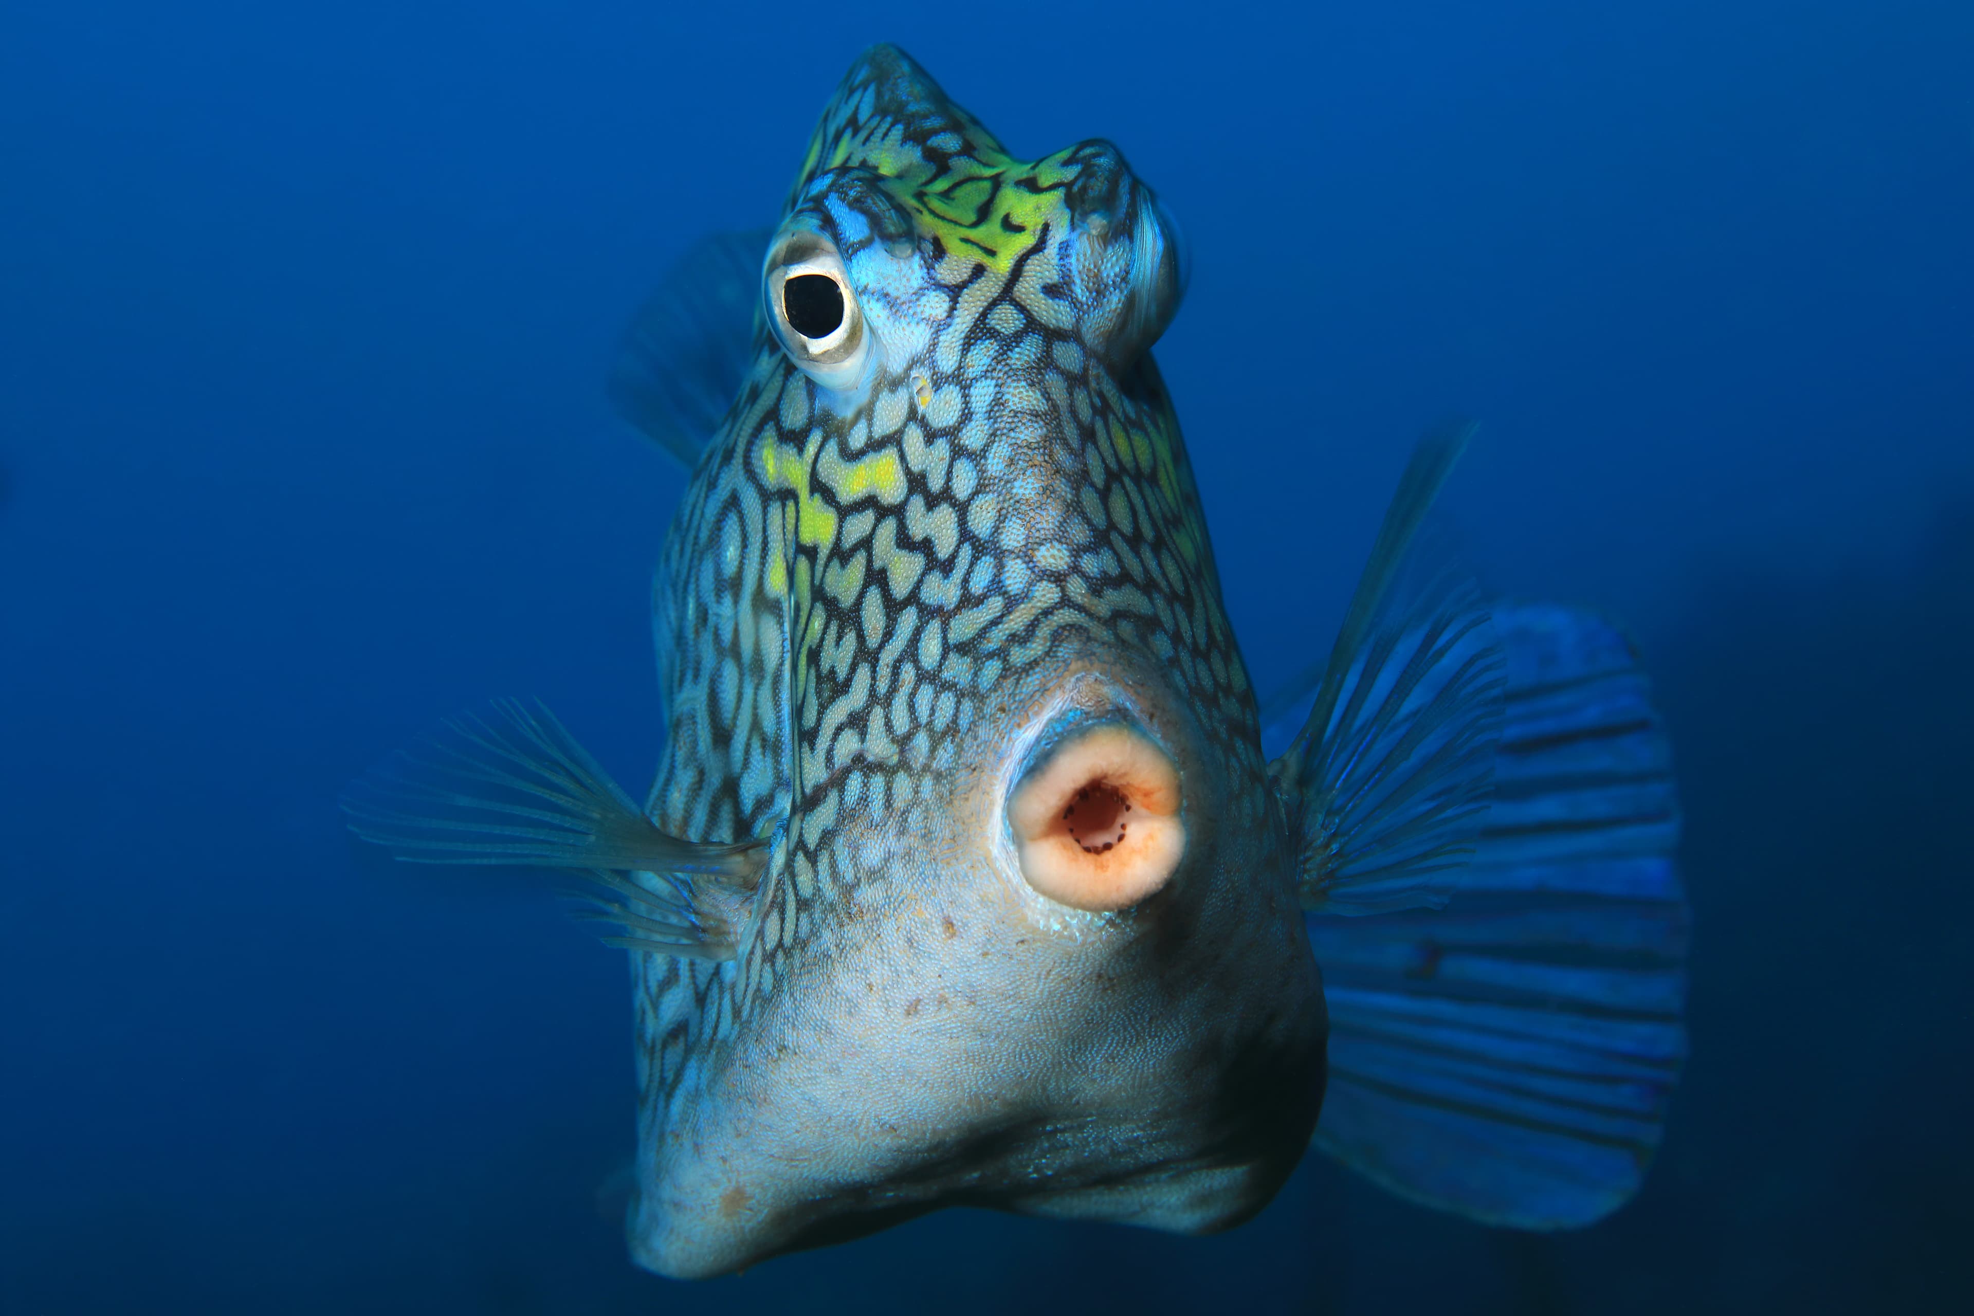
{"label": "deep blue open water surrounding the fish, darker at lower right", "polygon": [[[1690,813],[1694,1056],[1563,1237],[1305,1164],[1171,1239],[944,1213],[624,1259],[620,957],[334,797],[492,695],[624,779],[681,474],[614,337],[894,39],[1117,140],[1267,689],[1411,438],[1490,582],[1627,618]],[[0,1310],[1974,1306],[1974,8],[428,2],[0,10]]]}

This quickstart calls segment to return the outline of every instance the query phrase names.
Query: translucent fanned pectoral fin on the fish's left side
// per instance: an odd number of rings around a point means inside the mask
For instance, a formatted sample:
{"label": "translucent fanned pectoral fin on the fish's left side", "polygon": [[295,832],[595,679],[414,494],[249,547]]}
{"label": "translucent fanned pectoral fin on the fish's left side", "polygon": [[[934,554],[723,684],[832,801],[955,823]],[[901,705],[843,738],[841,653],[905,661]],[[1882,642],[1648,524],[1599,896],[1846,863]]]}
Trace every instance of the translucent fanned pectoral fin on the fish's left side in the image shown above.
{"label": "translucent fanned pectoral fin on the fish's left side", "polygon": [[764,841],[665,835],[555,714],[513,698],[391,756],[342,805],[349,831],[405,862],[572,872],[610,921],[669,939],[667,953],[730,957],[766,858]]}

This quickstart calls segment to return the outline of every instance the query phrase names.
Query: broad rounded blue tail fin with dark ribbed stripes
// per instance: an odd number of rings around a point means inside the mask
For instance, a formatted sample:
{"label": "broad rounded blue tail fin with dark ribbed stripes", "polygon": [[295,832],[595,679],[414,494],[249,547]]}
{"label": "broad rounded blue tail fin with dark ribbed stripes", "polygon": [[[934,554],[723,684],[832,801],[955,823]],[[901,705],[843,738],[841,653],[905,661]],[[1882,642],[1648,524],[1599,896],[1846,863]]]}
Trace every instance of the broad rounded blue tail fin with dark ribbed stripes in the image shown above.
{"label": "broad rounded blue tail fin with dark ribbed stripes", "polygon": [[1494,795],[1443,912],[1313,915],[1317,1146],[1425,1206],[1587,1225],[1636,1192],[1686,1054],[1670,750],[1607,621],[1500,606]]}

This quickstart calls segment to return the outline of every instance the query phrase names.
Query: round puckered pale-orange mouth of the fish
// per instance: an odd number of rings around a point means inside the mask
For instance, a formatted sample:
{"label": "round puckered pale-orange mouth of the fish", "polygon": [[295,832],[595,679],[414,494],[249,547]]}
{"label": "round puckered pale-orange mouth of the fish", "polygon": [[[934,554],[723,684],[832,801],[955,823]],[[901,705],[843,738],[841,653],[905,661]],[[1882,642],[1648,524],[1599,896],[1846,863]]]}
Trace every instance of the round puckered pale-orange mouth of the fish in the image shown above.
{"label": "round puckered pale-orange mouth of the fish", "polygon": [[1021,876],[1076,910],[1123,910],[1163,888],[1186,852],[1178,768],[1143,732],[1078,732],[1007,801]]}

